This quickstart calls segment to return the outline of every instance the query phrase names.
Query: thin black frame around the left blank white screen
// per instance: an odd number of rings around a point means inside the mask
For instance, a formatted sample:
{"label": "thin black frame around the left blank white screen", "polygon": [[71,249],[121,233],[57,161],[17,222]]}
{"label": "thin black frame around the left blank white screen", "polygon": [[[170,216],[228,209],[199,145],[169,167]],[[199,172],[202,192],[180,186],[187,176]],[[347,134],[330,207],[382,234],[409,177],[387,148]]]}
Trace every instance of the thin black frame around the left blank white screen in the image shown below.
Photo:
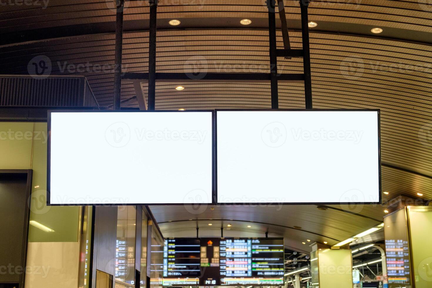
{"label": "thin black frame around the left blank white screen", "polygon": [[[176,112],[176,113],[191,113],[191,112],[208,112],[212,114],[212,199],[211,203],[93,203],[93,204],[51,204],[51,113],[163,113],[163,112]],[[215,111],[214,110],[55,110],[50,109],[47,111],[47,129],[48,129],[48,143],[47,143],[47,206],[162,206],[162,205],[212,205],[216,202],[215,199]]]}

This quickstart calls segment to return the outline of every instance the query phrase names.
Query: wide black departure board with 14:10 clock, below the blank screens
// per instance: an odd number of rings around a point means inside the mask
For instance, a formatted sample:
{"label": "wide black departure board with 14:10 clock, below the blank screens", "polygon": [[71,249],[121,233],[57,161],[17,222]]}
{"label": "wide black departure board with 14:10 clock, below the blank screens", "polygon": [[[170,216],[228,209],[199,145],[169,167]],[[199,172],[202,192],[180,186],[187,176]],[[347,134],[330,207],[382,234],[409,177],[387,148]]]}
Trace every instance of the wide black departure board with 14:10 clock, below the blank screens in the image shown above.
{"label": "wide black departure board with 14:10 clock, below the blank screens", "polygon": [[167,239],[163,285],[283,285],[283,255],[283,238]]}

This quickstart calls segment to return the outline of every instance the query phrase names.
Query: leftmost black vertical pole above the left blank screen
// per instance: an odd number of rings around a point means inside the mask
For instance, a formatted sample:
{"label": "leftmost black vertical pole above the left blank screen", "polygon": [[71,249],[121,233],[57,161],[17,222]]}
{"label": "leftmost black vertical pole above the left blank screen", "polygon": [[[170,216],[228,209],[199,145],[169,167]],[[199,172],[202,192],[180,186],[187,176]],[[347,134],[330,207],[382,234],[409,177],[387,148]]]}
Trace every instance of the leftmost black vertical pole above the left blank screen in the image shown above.
{"label": "leftmost black vertical pole above the left blank screen", "polygon": [[115,0],[115,58],[114,58],[114,106],[120,110],[121,96],[121,53],[123,49],[123,8],[124,0]]}

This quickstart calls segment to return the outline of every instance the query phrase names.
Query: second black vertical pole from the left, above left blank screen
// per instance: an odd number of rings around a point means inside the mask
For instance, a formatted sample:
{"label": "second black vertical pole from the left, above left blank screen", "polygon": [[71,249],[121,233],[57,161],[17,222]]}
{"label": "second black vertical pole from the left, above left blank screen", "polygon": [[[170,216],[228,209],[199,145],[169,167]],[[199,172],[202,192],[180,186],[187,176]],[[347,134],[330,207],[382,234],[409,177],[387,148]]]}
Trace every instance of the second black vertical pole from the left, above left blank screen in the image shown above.
{"label": "second black vertical pole from the left, above left blank screen", "polygon": [[158,0],[149,0],[150,25],[149,25],[149,101],[148,109],[155,110],[156,97],[156,12]]}

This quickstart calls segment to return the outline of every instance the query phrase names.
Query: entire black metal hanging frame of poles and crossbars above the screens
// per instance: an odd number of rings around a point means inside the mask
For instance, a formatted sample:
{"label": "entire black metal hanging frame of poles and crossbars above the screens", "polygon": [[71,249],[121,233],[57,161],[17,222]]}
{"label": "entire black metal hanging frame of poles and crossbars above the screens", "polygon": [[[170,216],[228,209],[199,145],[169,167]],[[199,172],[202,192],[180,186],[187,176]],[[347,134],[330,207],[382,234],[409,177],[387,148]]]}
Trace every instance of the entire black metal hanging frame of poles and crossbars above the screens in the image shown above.
{"label": "entire black metal hanging frame of poles and crossbars above the screens", "polygon": [[[134,82],[135,89],[141,89],[140,82],[148,82],[148,105],[145,101],[138,103],[142,110],[155,109],[156,82],[268,82],[271,88],[271,108],[279,108],[278,82],[304,82],[305,84],[305,108],[312,108],[312,84],[311,84],[311,58],[309,51],[309,27],[308,27],[308,6],[310,0],[300,0],[302,16],[302,49],[291,49],[289,44],[288,28],[286,26],[285,9],[283,0],[278,0],[276,7],[275,0],[267,0],[269,19],[269,55],[270,73],[206,73],[200,79],[190,79],[186,73],[156,73],[156,20],[158,0],[149,0],[150,21],[149,21],[149,72],[148,73],[124,73],[121,71],[121,53],[123,40],[123,7],[124,0],[115,0],[116,13],[116,39],[115,39],[115,68],[114,68],[114,110],[120,110],[121,82]],[[276,9],[282,24],[282,35],[284,49],[276,47]],[[303,58],[303,73],[277,73],[277,57]],[[137,92],[138,97],[143,96]]]}

